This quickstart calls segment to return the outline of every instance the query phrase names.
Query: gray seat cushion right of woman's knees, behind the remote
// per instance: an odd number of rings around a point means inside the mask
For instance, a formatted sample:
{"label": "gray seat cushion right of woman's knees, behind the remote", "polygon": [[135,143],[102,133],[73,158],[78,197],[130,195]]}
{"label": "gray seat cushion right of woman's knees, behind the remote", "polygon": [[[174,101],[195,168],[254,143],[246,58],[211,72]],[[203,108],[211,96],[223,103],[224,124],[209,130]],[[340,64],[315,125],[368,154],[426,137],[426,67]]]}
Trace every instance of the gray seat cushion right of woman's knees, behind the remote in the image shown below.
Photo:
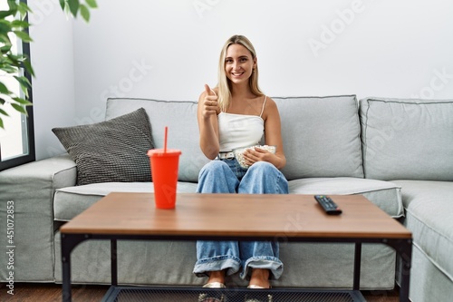
{"label": "gray seat cushion right of woman's knees, behind the remote", "polygon": [[[361,194],[393,218],[403,216],[400,186],[390,181],[339,178],[312,178],[289,181],[290,193],[350,195]],[[314,202],[314,199],[313,199]]]}

